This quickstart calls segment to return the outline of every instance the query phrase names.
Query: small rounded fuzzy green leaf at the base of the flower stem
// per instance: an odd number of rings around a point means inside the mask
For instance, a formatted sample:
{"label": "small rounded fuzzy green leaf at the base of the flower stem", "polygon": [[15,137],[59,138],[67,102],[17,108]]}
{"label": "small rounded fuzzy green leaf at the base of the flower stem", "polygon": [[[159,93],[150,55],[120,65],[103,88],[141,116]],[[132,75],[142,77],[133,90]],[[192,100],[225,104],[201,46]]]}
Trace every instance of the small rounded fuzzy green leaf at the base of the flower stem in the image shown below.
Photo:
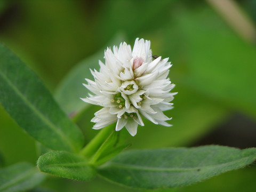
{"label": "small rounded fuzzy green leaf at the base of the flower stem", "polygon": [[37,161],[37,166],[42,172],[73,180],[90,180],[96,174],[83,156],[67,151],[50,151],[42,155]]}

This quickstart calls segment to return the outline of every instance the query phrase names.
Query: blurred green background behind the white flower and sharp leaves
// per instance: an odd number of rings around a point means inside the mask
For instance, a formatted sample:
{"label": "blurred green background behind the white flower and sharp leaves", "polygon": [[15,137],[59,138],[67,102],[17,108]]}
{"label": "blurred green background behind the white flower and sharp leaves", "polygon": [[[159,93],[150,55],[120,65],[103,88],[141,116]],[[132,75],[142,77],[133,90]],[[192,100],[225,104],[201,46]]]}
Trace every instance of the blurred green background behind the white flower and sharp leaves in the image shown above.
{"label": "blurred green background behind the white flower and sharp leaves", "polygon": [[[77,63],[83,60],[98,68],[97,60],[103,61],[103,50],[113,42],[133,46],[136,37],[149,39],[154,55],[172,61],[170,79],[179,93],[174,109],[166,112],[173,117],[173,126],[146,122],[134,138],[129,137],[131,149],[210,144],[256,147],[256,3],[231,1],[234,8],[212,2],[0,0],[0,41],[41,77],[65,110],[69,100],[58,90]],[[244,27],[247,22],[249,28]],[[84,78],[92,79],[88,70]],[[85,90],[82,83],[83,78],[74,86]],[[86,142],[97,134],[88,122],[98,109],[89,106],[77,122]],[[35,141],[2,106],[0,122],[0,166],[20,161],[35,164]],[[255,178],[256,167],[251,165],[189,187],[156,191],[256,191]],[[55,177],[34,191],[43,189],[141,191],[101,178],[77,182]]]}

